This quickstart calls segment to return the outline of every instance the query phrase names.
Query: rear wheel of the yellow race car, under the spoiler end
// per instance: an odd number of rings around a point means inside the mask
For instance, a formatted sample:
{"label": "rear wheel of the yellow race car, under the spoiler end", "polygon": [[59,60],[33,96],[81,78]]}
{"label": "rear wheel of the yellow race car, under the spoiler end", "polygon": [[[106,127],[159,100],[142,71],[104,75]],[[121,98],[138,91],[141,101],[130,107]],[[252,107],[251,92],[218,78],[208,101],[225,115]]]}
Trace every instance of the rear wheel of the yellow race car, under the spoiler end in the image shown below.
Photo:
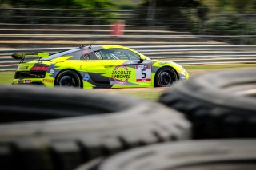
{"label": "rear wheel of the yellow race car, under the spoiler end", "polygon": [[75,71],[65,69],[58,73],[54,85],[66,88],[82,88],[82,80]]}

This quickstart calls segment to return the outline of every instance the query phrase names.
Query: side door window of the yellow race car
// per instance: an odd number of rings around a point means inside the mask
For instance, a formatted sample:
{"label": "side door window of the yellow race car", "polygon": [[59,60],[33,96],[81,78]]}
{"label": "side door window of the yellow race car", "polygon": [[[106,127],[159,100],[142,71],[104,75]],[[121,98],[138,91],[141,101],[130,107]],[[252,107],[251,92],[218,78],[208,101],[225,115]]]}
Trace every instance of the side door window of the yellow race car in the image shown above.
{"label": "side door window of the yellow race car", "polygon": [[139,60],[140,56],[128,49],[102,49],[98,51],[103,60]]}

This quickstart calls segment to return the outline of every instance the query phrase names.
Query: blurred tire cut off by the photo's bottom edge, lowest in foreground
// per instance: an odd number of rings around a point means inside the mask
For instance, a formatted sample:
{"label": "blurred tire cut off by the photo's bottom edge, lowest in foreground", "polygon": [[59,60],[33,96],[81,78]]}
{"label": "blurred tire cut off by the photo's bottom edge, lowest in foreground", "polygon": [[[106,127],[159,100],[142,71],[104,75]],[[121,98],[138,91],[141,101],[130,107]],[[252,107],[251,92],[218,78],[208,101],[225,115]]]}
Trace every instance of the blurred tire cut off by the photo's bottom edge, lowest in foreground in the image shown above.
{"label": "blurred tire cut off by the photo's bottom edge, lowest in foreground", "polygon": [[256,140],[190,140],[121,152],[77,170],[254,170]]}

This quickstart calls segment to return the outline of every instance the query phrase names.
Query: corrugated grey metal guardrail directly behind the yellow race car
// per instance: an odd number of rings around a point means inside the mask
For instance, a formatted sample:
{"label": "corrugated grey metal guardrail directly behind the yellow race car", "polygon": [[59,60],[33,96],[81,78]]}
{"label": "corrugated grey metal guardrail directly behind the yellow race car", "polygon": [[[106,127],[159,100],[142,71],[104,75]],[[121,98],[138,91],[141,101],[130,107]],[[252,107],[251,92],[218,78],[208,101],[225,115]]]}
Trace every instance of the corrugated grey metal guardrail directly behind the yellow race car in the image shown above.
{"label": "corrugated grey metal guardrail directly behind the yellow race car", "polygon": [[[0,49],[0,71],[17,68],[18,62],[11,58],[12,53],[45,51],[56,53],[65,48]],[[175,61],[181,65],[256,63],[256,45],[162,45],[130,46],[151,59]],[[30,61],[34,57],[27,57]]]}

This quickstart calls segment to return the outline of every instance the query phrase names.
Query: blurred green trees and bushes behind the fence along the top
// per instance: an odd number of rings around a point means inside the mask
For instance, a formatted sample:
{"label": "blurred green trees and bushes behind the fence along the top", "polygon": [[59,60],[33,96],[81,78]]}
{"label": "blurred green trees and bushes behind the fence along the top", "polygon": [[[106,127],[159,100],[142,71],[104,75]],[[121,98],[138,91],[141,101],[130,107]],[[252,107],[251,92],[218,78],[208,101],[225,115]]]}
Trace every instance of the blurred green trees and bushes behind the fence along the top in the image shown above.
{"label": "blurred green trees and bushes behind the fence along the top", "polygon": [[[122,22],[138,26],[166,26],[169,30],[189,31],[199,35],[215,35],[219,36],[218,40],[235,44],[256,43],[255,0],[0,0],[1,6],[92,10],[56,10],[48,14],[36,10],[27,11],[27,14],[9,10],[5,15],[78,17],[82,20],[70,18],[65,22],[94,25],[122,21],[118,12],[108,11],[132,10],[132,15]],[[6,20],[9,21],[10,18]],[[40,22],[54,23],[56,20],[42,18]],[[223,35],[226,37],[221,38]]]}

